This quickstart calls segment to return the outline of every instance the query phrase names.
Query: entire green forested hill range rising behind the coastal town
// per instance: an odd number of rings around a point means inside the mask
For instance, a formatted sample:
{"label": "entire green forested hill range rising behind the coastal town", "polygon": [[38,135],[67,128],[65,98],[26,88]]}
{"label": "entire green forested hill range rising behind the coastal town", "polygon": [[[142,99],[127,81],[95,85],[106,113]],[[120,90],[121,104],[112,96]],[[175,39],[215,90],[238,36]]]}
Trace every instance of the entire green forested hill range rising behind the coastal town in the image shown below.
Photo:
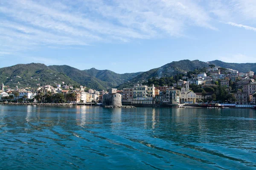
{"label": "entire green forested hill range rising behind the coastal town", "polygon": [[209,65],[232,68],[239,72],[256,72],[256,63],[227,63],[219,60],[202,62],[199,60],[180,60],[170,62],[159,68],[145,72],[117,74],[110,70],[79,70],[68,65],[44,65],[40,63],[17,64],[11,67],[0,68],[0,83],[10,87],[36,87],[40,85],[54,85],[65,82],[68,85],[84,85],[87,88],[103,90],[117,87],[119,89],[131,87],[151,77],[172,77],[183,74],[185,71],[194,71]]}

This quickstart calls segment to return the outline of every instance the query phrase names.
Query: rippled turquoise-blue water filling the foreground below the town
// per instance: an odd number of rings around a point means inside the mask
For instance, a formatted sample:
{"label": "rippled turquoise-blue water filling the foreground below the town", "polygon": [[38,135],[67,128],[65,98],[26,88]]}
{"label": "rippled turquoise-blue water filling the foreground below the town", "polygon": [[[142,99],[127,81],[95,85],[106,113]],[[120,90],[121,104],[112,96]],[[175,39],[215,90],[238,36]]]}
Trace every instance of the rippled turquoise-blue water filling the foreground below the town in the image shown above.
{"label": "rippled turquoise-blue water filling the foreground below the town", "polygon": [[256,111],[0,105],[0,169],[256,169]]}

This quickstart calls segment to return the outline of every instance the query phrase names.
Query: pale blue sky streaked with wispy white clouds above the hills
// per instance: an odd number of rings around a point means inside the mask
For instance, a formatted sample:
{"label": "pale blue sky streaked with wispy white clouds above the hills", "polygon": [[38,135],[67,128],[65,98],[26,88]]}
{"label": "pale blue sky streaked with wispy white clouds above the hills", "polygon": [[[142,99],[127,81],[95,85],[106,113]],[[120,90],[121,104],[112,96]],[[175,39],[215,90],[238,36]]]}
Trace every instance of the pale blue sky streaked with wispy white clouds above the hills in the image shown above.
{"label": "pale blue sky streaked with wispy white clouds above the hills", "polygon": [[0,68],[256,62],[256,0],[0,0]]}

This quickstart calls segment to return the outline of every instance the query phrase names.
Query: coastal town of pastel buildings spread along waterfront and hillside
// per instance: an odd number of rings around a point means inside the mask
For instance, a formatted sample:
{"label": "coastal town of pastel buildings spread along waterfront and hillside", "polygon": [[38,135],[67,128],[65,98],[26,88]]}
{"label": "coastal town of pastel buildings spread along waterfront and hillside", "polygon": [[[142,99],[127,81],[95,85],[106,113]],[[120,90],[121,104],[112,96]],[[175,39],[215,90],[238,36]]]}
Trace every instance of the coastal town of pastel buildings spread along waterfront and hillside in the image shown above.
{"label": "coastal town of pastel buildings spread along waterfront and hillside", "polygon": [[[255,105],[256,75],[253,71],[239,73],[230,68],[209,65],[209,68],[177,74],[175,77],[152,77],[131,88],[96,91],[80,86],[45,85],[38,88],[12,89],[1,85],[0,102],[40,103],[105,103],[112,96],[119,105],[153,106],[192,103],[226,103]],[[119,94],[116,96],[116,94]],[[108,104],[110,105],[110,104]]]}

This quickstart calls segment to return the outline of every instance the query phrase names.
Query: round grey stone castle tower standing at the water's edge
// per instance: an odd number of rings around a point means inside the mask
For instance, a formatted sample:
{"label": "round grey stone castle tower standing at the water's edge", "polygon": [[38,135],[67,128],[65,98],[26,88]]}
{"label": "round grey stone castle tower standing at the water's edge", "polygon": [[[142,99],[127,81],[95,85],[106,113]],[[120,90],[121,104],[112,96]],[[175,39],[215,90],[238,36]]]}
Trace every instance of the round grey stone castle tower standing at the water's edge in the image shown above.
{"label": "round grey stone castle tower standing at the water's edge", "polygon": [[122,106],[122,95],[116,91],[116,88],[109,88],[108,94],[102,96],[104,106]]}

